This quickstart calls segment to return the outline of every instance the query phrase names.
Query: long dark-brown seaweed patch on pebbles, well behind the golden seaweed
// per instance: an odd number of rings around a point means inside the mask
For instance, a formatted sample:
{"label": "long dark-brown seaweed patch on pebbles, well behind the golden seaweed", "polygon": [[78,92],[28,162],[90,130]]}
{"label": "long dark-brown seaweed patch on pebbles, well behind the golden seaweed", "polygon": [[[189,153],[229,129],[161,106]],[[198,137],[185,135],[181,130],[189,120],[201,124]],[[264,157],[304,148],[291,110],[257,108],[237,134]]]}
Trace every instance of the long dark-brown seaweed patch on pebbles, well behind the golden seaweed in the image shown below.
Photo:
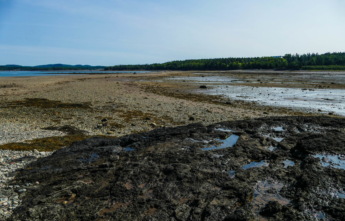
{"label": "long dark-brown seaweed patch on pebbles, well behind the golden seaweed", "polygon": [[24,101],[13,101],[12,104],[40,107],[40,108],[90,108],[87,104],[62,103],[61,101],[50,101],[45,98],[24,98]]}

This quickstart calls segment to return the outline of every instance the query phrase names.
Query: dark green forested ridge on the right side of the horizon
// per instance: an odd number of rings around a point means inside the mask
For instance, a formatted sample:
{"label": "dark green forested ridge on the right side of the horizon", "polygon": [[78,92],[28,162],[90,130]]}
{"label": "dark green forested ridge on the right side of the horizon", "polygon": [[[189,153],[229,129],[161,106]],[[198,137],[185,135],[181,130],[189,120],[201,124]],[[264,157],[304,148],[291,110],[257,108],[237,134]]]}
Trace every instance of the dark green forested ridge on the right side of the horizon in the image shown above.
{"label": "dark green forested ridge on the right side of the horizon", "polygon": [[345,52],[285,54],[283,57],[242,57],[170,61],[162,64],[115,65],[105,70],[237,70],[237,69],[345,70]]}

